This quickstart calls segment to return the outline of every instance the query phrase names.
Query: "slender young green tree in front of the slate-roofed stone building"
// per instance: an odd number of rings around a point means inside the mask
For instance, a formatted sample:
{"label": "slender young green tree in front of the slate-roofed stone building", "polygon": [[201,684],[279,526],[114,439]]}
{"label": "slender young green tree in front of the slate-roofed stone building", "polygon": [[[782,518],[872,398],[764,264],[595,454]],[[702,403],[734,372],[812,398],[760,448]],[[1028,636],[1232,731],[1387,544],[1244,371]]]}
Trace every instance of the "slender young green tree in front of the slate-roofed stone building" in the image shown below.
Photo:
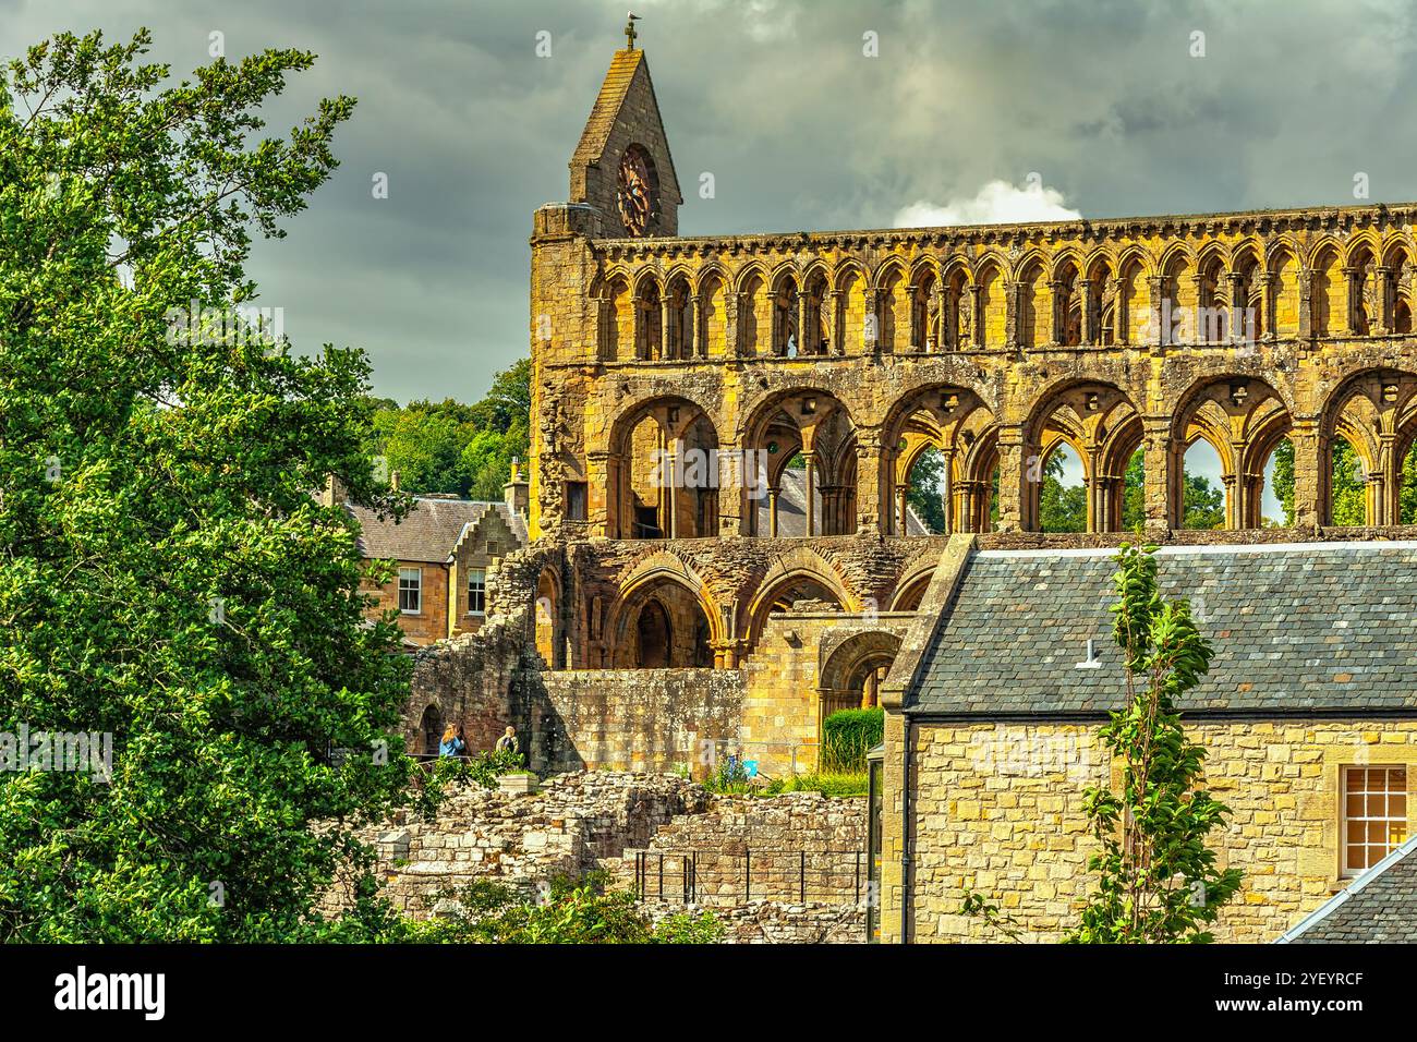
{"label": "slender young green tree in front of the slate-roofed stone building", "polygon": [[1240,889],[1206,846],[1229,808],[1197,788],[1206,751],[1186,737],[1176,699],[1210,668],[1212,648],[1187,601],[1163,601],[1155,547],[1124,544],[1114,576],[1112,635],[1127,669],[1127,707],[1102,746],[1121,763],[1121,791],[1090,788],[1084,805],[1101,852],[1097,889],[1068,940],[1090,944],[1210,941],[1203,927]]}

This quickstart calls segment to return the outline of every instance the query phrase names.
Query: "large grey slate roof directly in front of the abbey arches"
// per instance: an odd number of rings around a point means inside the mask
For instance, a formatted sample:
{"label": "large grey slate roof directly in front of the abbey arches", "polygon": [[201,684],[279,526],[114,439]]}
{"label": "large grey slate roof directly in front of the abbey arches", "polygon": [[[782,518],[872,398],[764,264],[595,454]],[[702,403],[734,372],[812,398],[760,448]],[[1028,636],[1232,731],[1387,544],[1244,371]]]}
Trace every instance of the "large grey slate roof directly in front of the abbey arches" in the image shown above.
{"label": "large grey slate roof directly in front of the abbey arches", "polygon": [[[975,553],[907,709],[1097,715],[1124,686],[1111,550]],[[1417,710],[1417,543],[1162,547],[1168,598],[1214,646],[1192,712]],[[1077,668],[1094,641],[1097,668]]]}

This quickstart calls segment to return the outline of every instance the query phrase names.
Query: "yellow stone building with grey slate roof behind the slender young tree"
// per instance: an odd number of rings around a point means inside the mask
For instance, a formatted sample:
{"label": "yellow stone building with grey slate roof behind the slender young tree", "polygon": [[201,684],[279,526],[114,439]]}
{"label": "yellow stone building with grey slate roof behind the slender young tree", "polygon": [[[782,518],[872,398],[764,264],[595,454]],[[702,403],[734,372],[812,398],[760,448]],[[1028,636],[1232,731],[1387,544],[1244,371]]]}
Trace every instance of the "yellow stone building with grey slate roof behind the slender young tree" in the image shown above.
{"label": "yellow stone building with grey slate roof behind the slender young tree", "polygon": [[[1216,936],[1274,940],[1411,835],[1417,542],[1168,546],[1158,563],[1214,646],[1179,706],[1233,812],[1220,865],[1244,872]],[[958,914],[966,889],[1037,940],[1076,924],[1084,788],[1119,784],[1098,743],[1125,700],[1114,571],[1110,550],[951,544],[881,693],[884,939],[989,940]]]}

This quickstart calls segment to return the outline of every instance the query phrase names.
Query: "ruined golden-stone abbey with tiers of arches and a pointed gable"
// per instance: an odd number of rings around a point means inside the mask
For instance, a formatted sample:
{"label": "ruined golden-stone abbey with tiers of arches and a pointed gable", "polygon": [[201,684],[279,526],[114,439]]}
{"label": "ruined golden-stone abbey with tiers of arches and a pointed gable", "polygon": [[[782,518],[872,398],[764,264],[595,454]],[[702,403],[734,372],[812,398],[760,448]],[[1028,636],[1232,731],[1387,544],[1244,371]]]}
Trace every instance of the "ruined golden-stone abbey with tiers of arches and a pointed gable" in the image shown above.
{"label": "ruined golden-stone abbey with tiers of arches and a pointed gable", "polygon": [[[652,193],[643,213],[616,183]],[[914,608],[939,549],[903,519],[930,447],[948,533],[1034,532],[1066,444],[1088,533],[1122,527],[1141,454],[1148,534],[1186,539],[1197,439],[1221,462],[1227,539],[1272,537],[1284,439],[1299,537],[1332,523],[1340,438],[1367,523],[1401,520],[1410,207],[696,238],[674,234],[679,203],[643,51],[622,50],[571,201],[531,238],[530,525],[574,557],[540,594],[558,666],[734,668],[795,600]],[[706,459],[717,475],[694,481]],[[778,534],[794,459],[809,540]]]}

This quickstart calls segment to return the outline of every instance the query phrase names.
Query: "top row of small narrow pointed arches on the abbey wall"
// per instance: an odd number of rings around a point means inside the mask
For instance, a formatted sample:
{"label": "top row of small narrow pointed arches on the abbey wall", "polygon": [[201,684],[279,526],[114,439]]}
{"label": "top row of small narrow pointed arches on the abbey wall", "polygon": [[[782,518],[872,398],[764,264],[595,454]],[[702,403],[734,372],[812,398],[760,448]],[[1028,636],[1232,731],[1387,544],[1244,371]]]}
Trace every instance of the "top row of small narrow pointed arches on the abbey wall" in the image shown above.
{"label": "top row of small narrow pointed arches on the abbey wall", "polygon": [[1136,251],[1067,252],[1024,259],[1012,282],[992,258],[973,269],[888,261],[874,276],[856,262],[751,268],[735,286],[718,268],[633,282],[616,272],[594,296],[601,357],[621,362],[1002,347],[1010,313],[1019,347],[1410,333],[1413,251],[1379,248],[1325,242],[1308,267],[1288,244],[1267,257],[1257,244],[1178,248],[1153,275]]}

